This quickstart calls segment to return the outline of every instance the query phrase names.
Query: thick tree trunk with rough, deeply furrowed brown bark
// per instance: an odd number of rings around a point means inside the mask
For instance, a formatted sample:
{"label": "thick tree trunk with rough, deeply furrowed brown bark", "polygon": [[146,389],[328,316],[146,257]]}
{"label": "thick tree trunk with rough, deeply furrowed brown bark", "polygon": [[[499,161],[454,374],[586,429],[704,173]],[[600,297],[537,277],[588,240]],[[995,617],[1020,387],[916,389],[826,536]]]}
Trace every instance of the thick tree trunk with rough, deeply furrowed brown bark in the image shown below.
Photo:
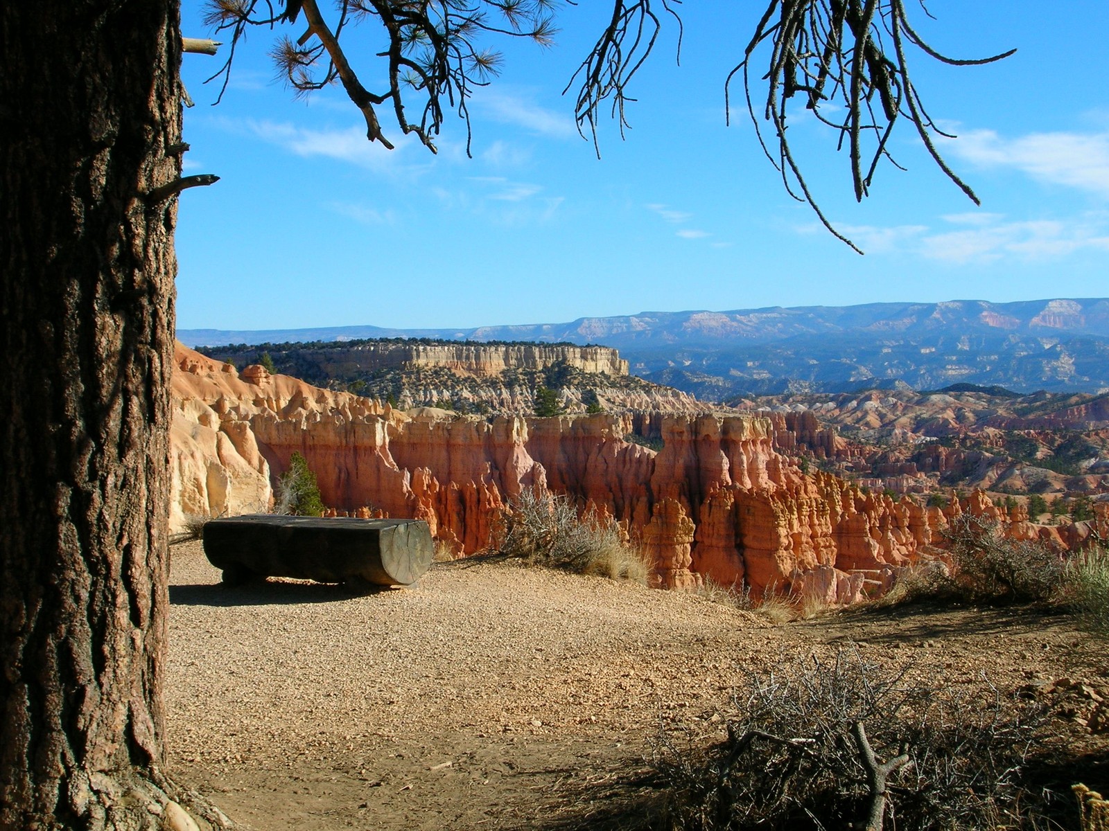
{"label": "thick tree trunk with rough, deeply furrowed brown bark", "polygon": [[164,810],[180,50],[176,0],[0,4],[3,829]]}

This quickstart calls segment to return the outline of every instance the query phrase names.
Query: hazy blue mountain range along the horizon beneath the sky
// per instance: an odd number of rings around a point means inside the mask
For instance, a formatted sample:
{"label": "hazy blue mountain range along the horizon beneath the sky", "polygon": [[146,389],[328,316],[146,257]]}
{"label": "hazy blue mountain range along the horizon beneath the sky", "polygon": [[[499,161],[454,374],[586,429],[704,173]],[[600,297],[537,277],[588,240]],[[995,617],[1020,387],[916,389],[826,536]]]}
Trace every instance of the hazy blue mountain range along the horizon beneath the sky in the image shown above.
{"label": "hazy blue mountain range along the horizon beneath the sky", "polygon": [[648,311],[474,329],[177,331],[187,346],[397,337],[617,347],[633,375],[709,400],[957,382],[1018,391],[1109,388],[1106,298]]}

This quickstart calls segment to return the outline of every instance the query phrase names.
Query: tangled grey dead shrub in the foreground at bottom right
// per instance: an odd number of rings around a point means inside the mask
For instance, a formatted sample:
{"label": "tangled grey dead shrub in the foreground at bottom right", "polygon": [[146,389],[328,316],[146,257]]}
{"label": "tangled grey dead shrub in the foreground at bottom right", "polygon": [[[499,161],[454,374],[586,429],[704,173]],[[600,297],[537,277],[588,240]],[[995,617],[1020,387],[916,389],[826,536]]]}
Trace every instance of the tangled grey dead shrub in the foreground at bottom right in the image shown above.
{"label": "tangled grey dead shrub in the foreground at bottom right", "polygon": [[[667,827],[978,829],[1032,827],[1035,798],[1017,777],[1040,714],[988,684],[917,686],[857,648],[828,661],[752,674],[734,697],[728,737],[691,749],[663,736]],[[1041,825],[1042,827],[1042,825]]]}

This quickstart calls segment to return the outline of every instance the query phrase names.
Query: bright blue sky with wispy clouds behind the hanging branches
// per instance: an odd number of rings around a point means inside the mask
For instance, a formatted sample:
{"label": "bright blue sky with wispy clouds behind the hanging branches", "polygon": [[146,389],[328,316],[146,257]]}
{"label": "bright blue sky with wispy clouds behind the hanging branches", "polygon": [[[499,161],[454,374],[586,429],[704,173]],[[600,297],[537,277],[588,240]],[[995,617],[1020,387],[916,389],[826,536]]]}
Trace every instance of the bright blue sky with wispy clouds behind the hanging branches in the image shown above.
{"label": "bright blue sky with wispy clouds behind the hanging branches", "polygon": [[[949,54],[1019,50],[987,66],[915,59],[933,115],[959,136],[944,152],[981,207],[905,129],[893,153],[908,172],[886,165],[857,205],[835,136],[793,122],[811,186],[864,257],[786,195],[745,111],[724,124],[723,79],[762,0],[685,3],[681,66],[669,27],[632,88],[632,130],[621,141],[602,123],[598,161],[561,91],[604,6],[561,9],[552,49],[499,44],[503,71],[471,104],[472,158],[454,117],[437,156],[383,117],[389,152],[366,141],[342,89],[294,100],[274,80],[268,31],[240,45],[217,106],[216,84],[203,80],[222,57],[185,55],[196,102],[185,115],[186,173],[221,181],[181,197],[177,326],[438,328],[1109,295],[1105,61],[1096,45],[1080,48],[1085,32],[1109,30],[1103,0],[932,0],[935,21],[916,9],[919,29]],[[185,0],[182,29],[208,34],[200,2]],[[372,86],[377,32],[347,33]]]}

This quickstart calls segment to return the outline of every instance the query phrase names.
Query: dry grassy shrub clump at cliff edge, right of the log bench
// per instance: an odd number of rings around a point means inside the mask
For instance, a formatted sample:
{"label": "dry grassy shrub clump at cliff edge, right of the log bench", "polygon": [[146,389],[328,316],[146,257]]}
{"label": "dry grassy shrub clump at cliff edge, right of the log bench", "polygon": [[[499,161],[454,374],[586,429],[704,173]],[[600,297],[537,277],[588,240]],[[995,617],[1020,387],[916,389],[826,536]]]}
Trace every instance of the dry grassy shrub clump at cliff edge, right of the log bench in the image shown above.
{"label": "dry grassy shrub clump at cliff edge, right of the log bench", "polygon": [[522,491],[498,519],[494,546],[506,556],[578,574],[643,584],[650,574],[614,520],[593,512],[579,516],[573,502],[561,494]]}

